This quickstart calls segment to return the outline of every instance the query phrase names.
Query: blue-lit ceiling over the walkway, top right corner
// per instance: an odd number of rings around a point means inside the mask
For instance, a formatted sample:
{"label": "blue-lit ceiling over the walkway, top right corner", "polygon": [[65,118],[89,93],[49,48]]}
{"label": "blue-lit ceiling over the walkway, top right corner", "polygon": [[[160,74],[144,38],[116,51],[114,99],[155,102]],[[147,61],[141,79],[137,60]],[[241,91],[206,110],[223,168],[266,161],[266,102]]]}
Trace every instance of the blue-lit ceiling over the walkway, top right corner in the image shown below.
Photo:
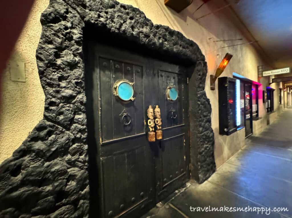
{"label": "blue-lit ceiling over the walkway, top right corner", "polygon": [[269,57],[270,64],[274,68],[292,68],[292,1],[240,0],[231,7]]}

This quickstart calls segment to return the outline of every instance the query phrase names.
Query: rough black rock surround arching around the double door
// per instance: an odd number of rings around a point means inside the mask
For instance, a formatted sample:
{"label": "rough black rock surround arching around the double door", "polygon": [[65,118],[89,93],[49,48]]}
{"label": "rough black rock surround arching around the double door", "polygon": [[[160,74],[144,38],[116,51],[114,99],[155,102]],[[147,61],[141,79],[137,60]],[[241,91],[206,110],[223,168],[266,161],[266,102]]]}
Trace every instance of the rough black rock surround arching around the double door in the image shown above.
{"label": "rough black rock surround arching around the double door", "polygon": [[[197,44],[180,32],[153,25],[139,9],[114,0],[50,0],[41,24],[36,60],[45,94],[44,118],[0,166],[0,217],[88,217],[83,27],[91,24],[100,34],[107,31],[126,37],[189,65],[204,62],[205,57]],[[202,88],[206,69],[196,69],[198,87]],[[200,93],[198,98],[204,100],[198,102],[199,116],[204,118],[202,126],[209,127],[210,103],[206,93]],[[192,94],[196,95],[190,93],[190,98]],[[214,140],[210,128],[197,135],[202,179],[215,166],[209,157]]]}

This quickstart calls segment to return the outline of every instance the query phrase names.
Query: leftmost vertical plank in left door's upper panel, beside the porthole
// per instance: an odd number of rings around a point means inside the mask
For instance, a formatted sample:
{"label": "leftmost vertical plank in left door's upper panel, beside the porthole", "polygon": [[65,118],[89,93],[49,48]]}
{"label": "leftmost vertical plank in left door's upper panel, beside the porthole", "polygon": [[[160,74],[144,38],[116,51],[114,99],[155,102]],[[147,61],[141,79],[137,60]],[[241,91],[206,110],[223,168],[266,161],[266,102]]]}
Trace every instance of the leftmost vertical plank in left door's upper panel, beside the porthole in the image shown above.
{"label": "leftmost vertical plank in left door's upper panel, beside the porthole", "polygon": [[[110,93],[110,96],[102,95],[100,97],[102,141],[107,141],[113,138],[111,61],[109,59],[100,58],[99,66],[101,93]],[[111,113],[108,113],[108,111]]]}

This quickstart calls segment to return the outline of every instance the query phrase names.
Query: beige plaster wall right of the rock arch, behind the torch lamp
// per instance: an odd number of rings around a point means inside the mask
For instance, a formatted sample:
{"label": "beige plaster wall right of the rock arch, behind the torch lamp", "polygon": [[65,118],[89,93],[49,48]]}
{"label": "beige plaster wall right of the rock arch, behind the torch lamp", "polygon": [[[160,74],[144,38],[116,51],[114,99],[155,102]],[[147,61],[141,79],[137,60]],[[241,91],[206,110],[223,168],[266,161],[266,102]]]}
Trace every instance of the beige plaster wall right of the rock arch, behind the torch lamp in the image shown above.
{"label": "beige plaster wall right of the rock arch, behind the torch lamp", "polygon": [[[192,14],[201,4],[200,1],[194,1],[191,6],[187,7],[179,14],[164,6],[163,0],[119,1],[121,3],[132,4],[133,6],[140,8],[140,10],[142,10],[154,24],[167,25],[175,30],[182,32],[187,38],[195,41],[201,48],[208,64],[208,74],[205,90],[212,106],[211,119],[212,128],[215,134],[215,161],[216,166],[219,167],[245,145],[245,130],[242,129],[230,136],[219,135],[217,81],[215,84],[216,90],[210,90],[210,74],[215,74],[216,68],[227,52],[231,53],[233,57],[221,76],[232,77],[232,73],[235,72],[253,81],[258,81],[257,66],[266,63],[262,60],[261,55],[257,53],[251,44],[221,48],[224,46],[248,42],[248,40],[238,29],[237,25],[232,23],[236,22],[236,20],[231,21],[230,18],[225,16],[225,10],[208,15],[199,20],[195,19],[209,13],[214,8],[219,8],[219,6],[222,6],[222,4],[225,5],[225,3],[221,0],[205,4],[196,13],[194,13],[194,15]],[[244,40],[214,42],[216,40],[241,38]],[[266,86],[269,85],[267,77],[263,78],[262,80],[264,81],[264,84],[260,88],[261,91],[263,89],[265,90]],[[279,89],[278,85],[277,89]],[[275,99],[278,98],[275,97]],[[275,100],[274,102],[274,107],[278,108],[279,101]],[[266,121],[265,105],[263,104],[262,100],[259,100],[259,115]],[[265,127],[266,122],[263,123],[262,129]]]}

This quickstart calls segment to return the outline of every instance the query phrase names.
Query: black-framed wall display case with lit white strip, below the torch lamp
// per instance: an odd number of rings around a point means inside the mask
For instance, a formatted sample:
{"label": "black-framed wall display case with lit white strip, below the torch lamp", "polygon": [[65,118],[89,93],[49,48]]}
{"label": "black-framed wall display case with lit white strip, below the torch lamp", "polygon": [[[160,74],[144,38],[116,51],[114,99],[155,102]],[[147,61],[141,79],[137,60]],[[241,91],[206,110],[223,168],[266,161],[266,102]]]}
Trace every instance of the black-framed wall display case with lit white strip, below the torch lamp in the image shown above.
{"label": "black-framed wall display case with lit white strip, below the torch lamp", "polygon": [[[230,135],[237,131],[237,123],[240,123],[240,96],[237,79],[231,77],[218,78],[218,97],[219,97],[219,134]],[[237,90],[237,91],[236,91]],[[240,111],[239,111],[240,112]]]}

